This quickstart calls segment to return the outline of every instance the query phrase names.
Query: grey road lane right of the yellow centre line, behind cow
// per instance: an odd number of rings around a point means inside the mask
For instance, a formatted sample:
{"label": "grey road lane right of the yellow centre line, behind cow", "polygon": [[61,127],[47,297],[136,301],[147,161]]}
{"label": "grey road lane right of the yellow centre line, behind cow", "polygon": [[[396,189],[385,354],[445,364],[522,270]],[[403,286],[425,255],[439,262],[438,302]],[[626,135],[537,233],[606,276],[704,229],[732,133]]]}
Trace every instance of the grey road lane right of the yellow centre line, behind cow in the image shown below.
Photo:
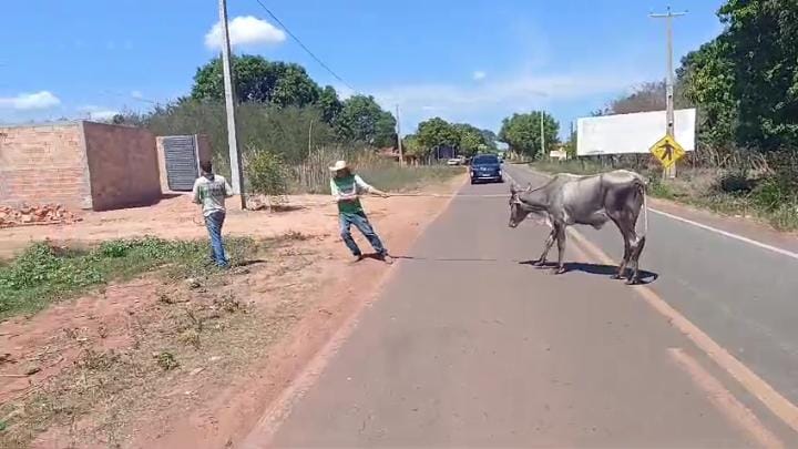
{"label": "grey road lane right of the yellow centre line, behind cow", "polygon": [[[519,182],[545,178],[509,165]],[[617,229],[580,232],[620,261]],[[798,259],[649,214],[642,266],[659,275],[652,288],[798,404]]]}

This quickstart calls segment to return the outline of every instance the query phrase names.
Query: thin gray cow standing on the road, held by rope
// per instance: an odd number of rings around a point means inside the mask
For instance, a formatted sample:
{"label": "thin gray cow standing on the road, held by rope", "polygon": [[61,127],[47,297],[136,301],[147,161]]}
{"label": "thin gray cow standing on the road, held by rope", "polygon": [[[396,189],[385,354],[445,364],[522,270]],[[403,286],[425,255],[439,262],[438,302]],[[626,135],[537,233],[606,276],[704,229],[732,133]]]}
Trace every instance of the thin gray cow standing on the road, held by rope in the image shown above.
{"label": "thin gray cow standing on the road, held by rope", "polygon": [[[565,272],[565,228],[573,224],[591,225],[601,228],[612,221],[621,231],[624,239],[624,256],[614,278],[621,278],[631,263],[632,275],[627,284],[640,282],[640,256],[645,246],[648,227],[646,212],[645,181],[641,175],[626,170],[615,170],[590,176],[567,173],[555,175],[545,185],[519,192],[513,183],[510,187],[510,227],[516,227],[529,214],[538,215],[548,222],[552,231],[545,247],[535,265],[544,265],[554,241],[559,256],[554,273]],[[636,231],[637,216],[643,207],[643,232]]]}

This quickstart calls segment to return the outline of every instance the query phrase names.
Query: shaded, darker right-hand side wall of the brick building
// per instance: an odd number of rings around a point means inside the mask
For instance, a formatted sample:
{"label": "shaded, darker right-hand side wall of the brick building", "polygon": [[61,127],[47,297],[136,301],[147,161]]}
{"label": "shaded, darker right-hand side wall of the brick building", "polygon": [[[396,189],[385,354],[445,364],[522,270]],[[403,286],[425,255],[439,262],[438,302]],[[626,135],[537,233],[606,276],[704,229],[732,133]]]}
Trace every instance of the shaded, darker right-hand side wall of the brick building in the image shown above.
{"label": "shaded, darker right-hand side wall of the brick building", "polygon": [[146,130],[83,122],[94,211],[161,198],[155,136]]}

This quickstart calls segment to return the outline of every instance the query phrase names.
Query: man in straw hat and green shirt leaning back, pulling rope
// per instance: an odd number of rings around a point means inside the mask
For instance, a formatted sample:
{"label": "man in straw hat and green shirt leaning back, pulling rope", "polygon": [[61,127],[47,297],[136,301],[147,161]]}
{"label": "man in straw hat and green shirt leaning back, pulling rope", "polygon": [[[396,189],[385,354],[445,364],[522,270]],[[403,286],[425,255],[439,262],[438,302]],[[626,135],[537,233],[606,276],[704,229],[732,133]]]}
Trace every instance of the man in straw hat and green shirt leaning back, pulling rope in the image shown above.
{"label": "man in straw hat and green shirt leaning back, pulling rope", "polygon": [[346,161],[336,162],[329,170],[332,172],[330,191],[338,202],[340,235],[341,238],[344,238],[344,243],[355,256],[355,261],[362,261],[364,256],[349,231],[351,225],[355,225],[369,241],[371,247],[374,247],[377,253],[377,258],[390,264],[391,258],[388,255],[388,249],[385,248],[374,227],[371,227],[366,212],[364,212],[362,205],[360,204],[360,194],[362,193],[371,193],[382,197],[388,197],[388,194],[366,184],[359,175],[352,173]]}

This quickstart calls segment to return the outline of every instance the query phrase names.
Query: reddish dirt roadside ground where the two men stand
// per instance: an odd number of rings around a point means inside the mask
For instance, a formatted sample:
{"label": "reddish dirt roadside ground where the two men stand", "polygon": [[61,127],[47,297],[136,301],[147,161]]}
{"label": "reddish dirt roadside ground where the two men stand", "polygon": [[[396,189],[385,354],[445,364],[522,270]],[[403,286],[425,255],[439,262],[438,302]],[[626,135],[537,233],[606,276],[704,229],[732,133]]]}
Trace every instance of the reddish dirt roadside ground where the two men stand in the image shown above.
{"label": "reddish dirt roadside ground where the two men stand", "polygon": [[[462,181],[427,192],[450,193]],[[320,203],[327,197],[293,201]],[[366,207],[389,249],[402,254],[447,203],[441,197],[393,197],[368,200]],[[214,285],[164,285],[145,276],[29,319],[0,323],[0,355],[13,360],[0,365],[0,374],[40,369],[2,379],[0,405],[10,411],[0,419],[13,422],[31,407],[55,409],[42,415],[48,426],[39,429],[45,431],[35,448],[235,443],[391,273],[377,261],[349,262],[335,215],[332,205],[274,214],[233,211],[229,234],[294,237],[265,253],[264,262]],[[195,218],[195,206],[177,197],[151,210],[90,214],[72,226],[2,229],[0,243],[9,251],[44,237],[76,244],[141,235],[204,237]],[[231,302],[235,312],[224,312]],[[186,315],[205,317],[200,318],[205,327],[195,336],[197,347],[186,344],[193,331]],[[153,357],[164,351],[180,366],[153,370]],[[95,359],[103,370],[93,365]],[[92,382],[117,382],[119,390],[109,392]],[[81,401],[86,392],[96,396],[94,404]],[[53,396],[58,401],[48,402]],[[8,407],[18,404],[27,408]]]}

